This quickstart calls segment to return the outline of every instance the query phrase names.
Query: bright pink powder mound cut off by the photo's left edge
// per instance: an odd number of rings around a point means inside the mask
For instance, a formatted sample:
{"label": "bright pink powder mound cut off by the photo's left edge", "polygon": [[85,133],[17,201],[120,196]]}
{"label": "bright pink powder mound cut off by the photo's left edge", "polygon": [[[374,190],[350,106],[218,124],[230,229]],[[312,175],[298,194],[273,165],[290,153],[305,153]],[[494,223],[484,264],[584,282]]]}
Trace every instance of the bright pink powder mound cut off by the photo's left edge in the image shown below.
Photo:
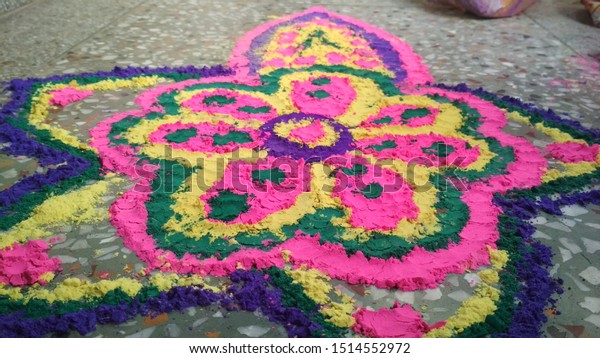
{"label": "bright pink powder mound cut off by the photo's left edge", "polygon": [[0,250],[0,282],[13,286],[45,285],[44,274],[59,270],[61,264],[58,258],[48,256],[49,249],[46,241],[32,240]]}

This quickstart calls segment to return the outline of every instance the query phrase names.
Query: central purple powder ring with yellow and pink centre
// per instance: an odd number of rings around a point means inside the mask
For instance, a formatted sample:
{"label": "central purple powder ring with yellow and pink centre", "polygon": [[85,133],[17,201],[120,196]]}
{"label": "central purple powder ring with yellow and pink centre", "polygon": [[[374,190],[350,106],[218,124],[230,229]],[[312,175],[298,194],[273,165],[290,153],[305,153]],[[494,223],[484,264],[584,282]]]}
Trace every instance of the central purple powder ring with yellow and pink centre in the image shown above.
{"label": "central purple powder ring with yellow and pink centre", "polygon": [[286,114],[264,124],[260,130],[270,134],[265,141],[269,155],[290,156],[307,163],[343,155],[353,141],[345,126],[317,114]]}

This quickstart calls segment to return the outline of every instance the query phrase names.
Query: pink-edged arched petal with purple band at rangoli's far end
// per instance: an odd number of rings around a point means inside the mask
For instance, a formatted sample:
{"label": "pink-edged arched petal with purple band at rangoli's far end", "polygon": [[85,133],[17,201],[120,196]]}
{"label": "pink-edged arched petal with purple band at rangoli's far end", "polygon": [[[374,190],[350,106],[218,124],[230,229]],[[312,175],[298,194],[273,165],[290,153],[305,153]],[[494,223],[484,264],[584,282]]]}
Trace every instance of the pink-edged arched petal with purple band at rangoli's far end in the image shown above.
{"label": "pink-edged arched petal with purple band at rangoli's far end", "polygon": [[284,16],[250,31],[240,39],[229,61],[229,66],[249,76],[314,65],[343,65],[385,73],[403,87],[432,81],[420,57],[406,43],[321,7]]}

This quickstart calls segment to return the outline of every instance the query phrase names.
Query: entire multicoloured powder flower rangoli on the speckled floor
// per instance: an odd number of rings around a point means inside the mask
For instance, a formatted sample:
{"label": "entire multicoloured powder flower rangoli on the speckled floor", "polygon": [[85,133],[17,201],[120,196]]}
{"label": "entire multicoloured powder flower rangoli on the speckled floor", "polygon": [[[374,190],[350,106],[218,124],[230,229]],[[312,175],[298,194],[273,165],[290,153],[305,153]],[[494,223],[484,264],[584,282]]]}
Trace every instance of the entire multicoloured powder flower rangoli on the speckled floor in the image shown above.
{"label": "entire multicoloured powder flower rangoli on the speckled floor", "polygon": [[[562,289],[528,220],[600,202],[598,130],[436,84],[407,44],[323,8],[250,31],[227,68],[10,90],[2,150],[43,170],[0,192],[2,337],[208,306],[290,337],[535,337]],[[128,90],[135,109],[85,133],[55,120]],[[406,299],[467,273],[435,319]],[[396,299],[360,299],[382,292]]]}

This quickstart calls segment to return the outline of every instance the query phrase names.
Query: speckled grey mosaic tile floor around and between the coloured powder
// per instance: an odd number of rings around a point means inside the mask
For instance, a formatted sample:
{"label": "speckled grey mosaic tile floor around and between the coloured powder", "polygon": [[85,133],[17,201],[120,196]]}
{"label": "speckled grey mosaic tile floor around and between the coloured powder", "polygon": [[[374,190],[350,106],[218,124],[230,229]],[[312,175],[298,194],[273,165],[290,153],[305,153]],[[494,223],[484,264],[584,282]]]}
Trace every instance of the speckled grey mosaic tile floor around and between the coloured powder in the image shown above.
{"label": "speckled grey mosaic tile floor around and between the coloured powder", "polygon": [[[484,85],[488,91],[568,113],[586,127],[600,127],[600,29],[591,26],[578,0],[540,0],[522,16],[481,20],[419,0],[324,0],[328,9],[394,34],[423,56],[440,83]],[[114,66],[208,66],[226,63],[236,39],[272,17],[305,10],[307,0],[268,1],[36,1],[0,15],[0,80],[110,70]],[[28,24],[40,24],[33,28]],[[65,112],[51,114],[60,126],[88,130],[115,111],[133,107],[136,93],[117,90],[92,96]],[[71,111],[71,112],[69,112]],[[72,122],[73,115],[77,115]],[[66,119],[69,118],[68,121]],[[517,123],[511,132],[528,133]],[[544,138],[536,137],[540,144]],[[534,141],[535,144],[535,141]],[[35,160],[0,154],[0,189],[39,168]],[[103,197],[108,206],[117,192]],[[565,293],[555,315],[548,311],[549,337],[600,337],[600,207],[569,206],[564,216],[533,220],[534,237],[552,247],[552,273]],[[63,274],[79,278],[137,272],[141,263],[107,222],[56,228],[52,253]],[[450,275],[434,290],[389,293],[372,287],[337,288],[363,303],[389,307],[394,300],[421,307],[424,319],[447,317],[477,284],[475,273]],[[92,336],[109,337],[280,337],[285,330],[257,314],[188,309],[119,326],[102,326]]]}

